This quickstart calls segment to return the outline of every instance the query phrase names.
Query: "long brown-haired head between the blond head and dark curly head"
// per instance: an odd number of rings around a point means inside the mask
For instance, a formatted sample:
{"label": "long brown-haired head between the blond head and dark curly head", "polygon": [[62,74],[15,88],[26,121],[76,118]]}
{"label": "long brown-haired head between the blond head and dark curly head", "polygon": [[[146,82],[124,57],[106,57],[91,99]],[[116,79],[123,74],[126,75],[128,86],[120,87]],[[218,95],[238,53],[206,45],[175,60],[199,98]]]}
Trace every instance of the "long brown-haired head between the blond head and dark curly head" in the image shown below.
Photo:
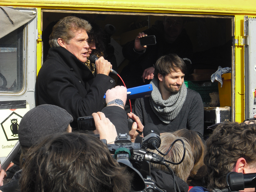
{"label": "long brown-haired head between the blond head and dark curly head", "polygon": [[205,145],[197,132],[188,129],[180,129],[175,132],[179,137],[188,140],[194,158],[194,166],[187,180],[188,184],[193,179],[201,180],[206,175],[206,166],[204,165]]}

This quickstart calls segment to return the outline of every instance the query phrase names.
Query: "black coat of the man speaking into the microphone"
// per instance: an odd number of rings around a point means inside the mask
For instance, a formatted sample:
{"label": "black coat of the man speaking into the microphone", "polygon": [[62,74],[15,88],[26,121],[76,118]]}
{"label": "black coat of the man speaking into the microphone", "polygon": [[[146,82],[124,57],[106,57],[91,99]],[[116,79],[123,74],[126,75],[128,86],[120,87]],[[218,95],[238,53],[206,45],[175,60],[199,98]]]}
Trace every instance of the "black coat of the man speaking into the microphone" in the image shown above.
{"label": "black coat of the man speaking into the microphone", "polygon": [[95,77],[87,66],[63,47],[50,48],[37,77],[37,104],[52,104],[64,108],[73,116],[72,128],[77,118],[91,116],[101,111],[103,98],[115,81],[106,75]]}

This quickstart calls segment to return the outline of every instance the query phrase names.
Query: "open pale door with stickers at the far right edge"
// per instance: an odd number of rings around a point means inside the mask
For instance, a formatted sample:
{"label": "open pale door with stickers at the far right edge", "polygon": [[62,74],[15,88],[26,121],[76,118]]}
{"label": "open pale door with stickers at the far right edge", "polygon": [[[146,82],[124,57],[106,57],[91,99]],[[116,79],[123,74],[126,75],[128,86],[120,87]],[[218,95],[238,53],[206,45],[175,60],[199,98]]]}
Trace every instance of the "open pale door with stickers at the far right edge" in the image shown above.
{"label": "open pale door with stickers at the far right edge", "polygon": [[244,16],[245,119],[256,114],[256,18]]}

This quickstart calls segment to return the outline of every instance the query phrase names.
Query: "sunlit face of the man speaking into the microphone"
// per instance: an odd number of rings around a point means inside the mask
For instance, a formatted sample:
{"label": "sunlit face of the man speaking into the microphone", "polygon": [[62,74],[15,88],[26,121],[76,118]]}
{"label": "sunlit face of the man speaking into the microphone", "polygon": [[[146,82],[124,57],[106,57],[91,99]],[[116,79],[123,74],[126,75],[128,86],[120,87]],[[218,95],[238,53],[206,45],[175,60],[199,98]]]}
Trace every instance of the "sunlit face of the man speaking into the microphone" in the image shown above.
{"label": "sunlit face of the man speaking into the microphone", "polygon": [[88,52],[89,45],[87,43],[88,35],[85,30],[79,30],[74,32],[75,37],[73,37],[69,44],[66,44],[66,48],[69,52],[73,53],[76,58],[83,63],[86,62],[86,54]]}

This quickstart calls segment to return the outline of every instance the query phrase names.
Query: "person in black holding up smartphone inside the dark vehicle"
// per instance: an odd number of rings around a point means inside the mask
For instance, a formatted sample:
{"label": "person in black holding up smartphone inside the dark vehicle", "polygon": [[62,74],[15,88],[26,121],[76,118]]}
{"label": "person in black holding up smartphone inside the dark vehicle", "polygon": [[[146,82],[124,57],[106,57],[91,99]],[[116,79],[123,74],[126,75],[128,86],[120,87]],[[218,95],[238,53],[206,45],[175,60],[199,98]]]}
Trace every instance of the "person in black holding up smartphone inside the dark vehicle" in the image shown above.
{"label": "person in black holding up smartphone inside the dark vehicle", "polygon": [[[184,29],[185,24],[184,17],[165,16],[162,22],[139,33],[135,40],[124,45],[123,55],[130,62],[120,75],[127,88],[148,84],[154,77],[156,60],[163,55],[176,53],[181,58],[191,57],[193,47]],[[156,37],[156,44],[140,44],[141,39],[152,35]]]}

